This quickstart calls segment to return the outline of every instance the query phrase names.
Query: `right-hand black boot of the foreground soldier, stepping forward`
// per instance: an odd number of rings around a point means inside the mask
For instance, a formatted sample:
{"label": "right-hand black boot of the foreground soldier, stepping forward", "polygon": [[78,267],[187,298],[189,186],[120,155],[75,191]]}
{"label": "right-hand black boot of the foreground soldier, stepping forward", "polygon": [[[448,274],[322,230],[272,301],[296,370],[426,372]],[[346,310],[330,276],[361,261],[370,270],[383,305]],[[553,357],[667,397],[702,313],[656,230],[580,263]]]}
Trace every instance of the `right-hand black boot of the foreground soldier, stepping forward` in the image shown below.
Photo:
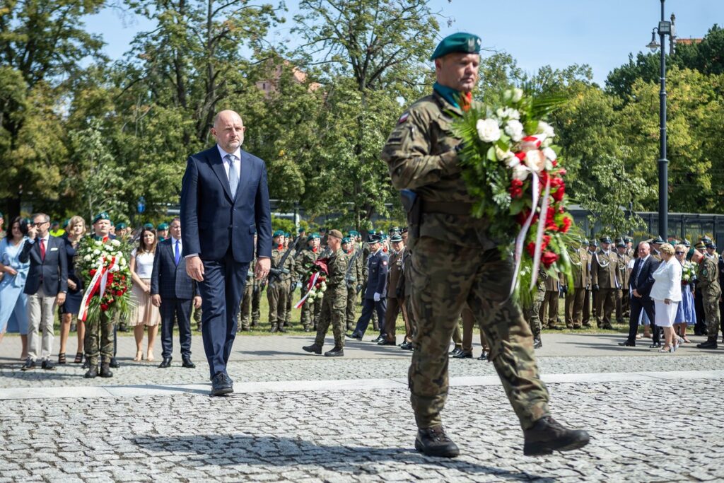
{"label": "right-hand black boot of the foreground soldier, stepping forward", "polygon": [[523,454],[526,456],[550,455],[554,450],[577,450],[590,440],[587,432],[568,429],[551,416],[543,416],[531,429],[523,429],[523,436],[526,439]]}

